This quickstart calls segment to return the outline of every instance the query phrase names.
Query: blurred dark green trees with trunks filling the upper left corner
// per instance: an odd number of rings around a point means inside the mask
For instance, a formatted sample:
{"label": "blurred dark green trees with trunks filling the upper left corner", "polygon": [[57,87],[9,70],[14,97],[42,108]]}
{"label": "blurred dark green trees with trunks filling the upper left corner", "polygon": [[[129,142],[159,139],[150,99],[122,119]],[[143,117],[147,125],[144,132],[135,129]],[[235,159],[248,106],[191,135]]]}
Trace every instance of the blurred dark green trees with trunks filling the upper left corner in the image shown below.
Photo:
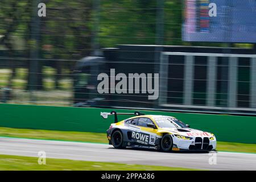
{"label": "blurred dark green trees with trunks filling the upper left corner", "polygon": [[[36,2],[36,3],[35,3]],[[59,86],[58,80],[61,75],[61,68],[67,67],[72,69],[73,64],[65,65],[63,61],[56,59],[73,59],[88,56],[91,50],[92,36],[92,1],[40,1],[47,5],[47,17],[40,18],[37,15],[36,0],[3,0],[0,2],[0,44],[10,52],[10,68],[13,68],[15,76],[15,64],[11,57],[14,56],[15,50],[11,43],[11,36],[19,36],[26,42],[26,48],[23,56],[33,59],[52,59],[52,63],[47,64],[57,69],[56,88]],[[40,20],[40,31],[35,32],[35,24]],[[44,47],[50,47],[44,49]],[[38,53],[36,53],[38,50]],[[34,60],[30,60],[29,63]],[[42,62],[42,61],[41,61]],[[32,62],[34,63],[34,62]],[[37,85],[34,89],[42,89],[42,64],[33,66],[30,69],[28,85]],[[31,79],[37,77],[35,82]],[[9,84],[11,85],[11,83]],[[29,88],[29,86],[28,86]]]}

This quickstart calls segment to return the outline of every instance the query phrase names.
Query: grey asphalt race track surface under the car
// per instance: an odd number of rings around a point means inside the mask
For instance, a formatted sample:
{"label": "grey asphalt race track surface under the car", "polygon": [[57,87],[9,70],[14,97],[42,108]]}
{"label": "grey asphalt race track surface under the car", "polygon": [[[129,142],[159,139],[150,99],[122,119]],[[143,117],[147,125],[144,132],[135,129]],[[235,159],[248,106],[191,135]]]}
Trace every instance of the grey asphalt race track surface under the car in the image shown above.
{"label": "grey asphalt race track surface under the car", "polygon": [[[47,158],[57,159],[210,170],[256,170],[256,154],[232,152],[165,153],[131,148],[119,150],[108,144],[0,137],[0,154],[38,157],[39,151],[45,151]],[[209,164],[209,160],[214,162],[215,156],[217,164]]]}

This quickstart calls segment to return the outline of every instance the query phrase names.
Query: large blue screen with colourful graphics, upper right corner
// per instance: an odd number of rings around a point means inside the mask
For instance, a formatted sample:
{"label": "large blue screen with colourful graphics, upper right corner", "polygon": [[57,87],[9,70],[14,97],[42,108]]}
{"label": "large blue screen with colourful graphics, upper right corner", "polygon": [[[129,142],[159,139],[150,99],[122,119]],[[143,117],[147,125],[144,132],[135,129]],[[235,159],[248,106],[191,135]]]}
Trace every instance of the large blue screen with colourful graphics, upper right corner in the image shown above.
{"label": "large blue screen with colourful graphics, upper right corner", "polygon": [[256,43],[256,0],[185,0],[183,41]]}

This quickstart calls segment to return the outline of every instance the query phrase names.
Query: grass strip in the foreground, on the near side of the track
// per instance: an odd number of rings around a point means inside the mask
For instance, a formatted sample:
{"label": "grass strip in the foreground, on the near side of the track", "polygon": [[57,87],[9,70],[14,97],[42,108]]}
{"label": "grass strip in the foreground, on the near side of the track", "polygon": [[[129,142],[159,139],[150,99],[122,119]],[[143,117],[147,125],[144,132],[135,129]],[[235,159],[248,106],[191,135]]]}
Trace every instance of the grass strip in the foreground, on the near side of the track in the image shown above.
{"label": "grass strip in the foreground, on the near side of the track", "polygon": [[46,165],[39,165],[38,158],[0,155],[0,171],[192,171],[195,169],[163,167],[163,166],[144,166],[134,164],[87,162],[68,159],[46,159]]}

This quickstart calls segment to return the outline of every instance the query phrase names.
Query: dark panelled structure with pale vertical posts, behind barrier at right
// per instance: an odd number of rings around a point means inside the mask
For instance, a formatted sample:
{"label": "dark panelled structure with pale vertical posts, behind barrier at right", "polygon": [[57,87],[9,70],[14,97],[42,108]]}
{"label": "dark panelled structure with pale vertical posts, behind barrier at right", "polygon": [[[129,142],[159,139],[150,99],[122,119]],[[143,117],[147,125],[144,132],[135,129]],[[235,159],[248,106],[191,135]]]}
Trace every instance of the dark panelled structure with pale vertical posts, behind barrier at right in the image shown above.
{"label": "dark panelled structure with pale vertical posts, behind barrier at right", "polygon": [[159,105],[255,111],[255,58],[256,55],[163,52]]}

